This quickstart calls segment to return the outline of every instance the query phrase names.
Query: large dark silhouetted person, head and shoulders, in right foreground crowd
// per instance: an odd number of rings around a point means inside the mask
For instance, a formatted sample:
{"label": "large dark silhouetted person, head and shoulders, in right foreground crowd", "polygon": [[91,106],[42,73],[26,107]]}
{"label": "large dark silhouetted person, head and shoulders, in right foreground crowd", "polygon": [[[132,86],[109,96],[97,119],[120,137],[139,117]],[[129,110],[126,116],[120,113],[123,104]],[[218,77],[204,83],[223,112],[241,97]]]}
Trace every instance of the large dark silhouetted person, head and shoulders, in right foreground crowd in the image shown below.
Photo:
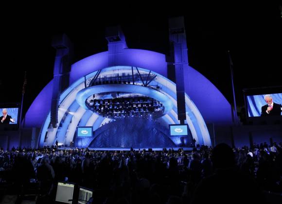
{"label": "large dark silhouetted person, head and shoulders, in right foreground crowd", "polygon": [[192,204],[264,203],[255,182],[236,166],[232,148],[218,144],[212,152],[215,173],[204,178],[195,190]]}

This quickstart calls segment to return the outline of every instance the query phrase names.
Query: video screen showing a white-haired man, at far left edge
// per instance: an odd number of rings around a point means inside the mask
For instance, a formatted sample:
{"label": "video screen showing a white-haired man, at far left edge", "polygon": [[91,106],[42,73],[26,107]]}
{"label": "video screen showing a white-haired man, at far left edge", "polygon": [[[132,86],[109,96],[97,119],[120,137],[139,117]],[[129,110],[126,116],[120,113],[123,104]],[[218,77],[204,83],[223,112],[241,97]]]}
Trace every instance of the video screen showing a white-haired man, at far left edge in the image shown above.
{"label": "video screen showing a white-haired man, at far left edge", "polygon": [[0,124],[18,124],[18,107],[0,107]]}

